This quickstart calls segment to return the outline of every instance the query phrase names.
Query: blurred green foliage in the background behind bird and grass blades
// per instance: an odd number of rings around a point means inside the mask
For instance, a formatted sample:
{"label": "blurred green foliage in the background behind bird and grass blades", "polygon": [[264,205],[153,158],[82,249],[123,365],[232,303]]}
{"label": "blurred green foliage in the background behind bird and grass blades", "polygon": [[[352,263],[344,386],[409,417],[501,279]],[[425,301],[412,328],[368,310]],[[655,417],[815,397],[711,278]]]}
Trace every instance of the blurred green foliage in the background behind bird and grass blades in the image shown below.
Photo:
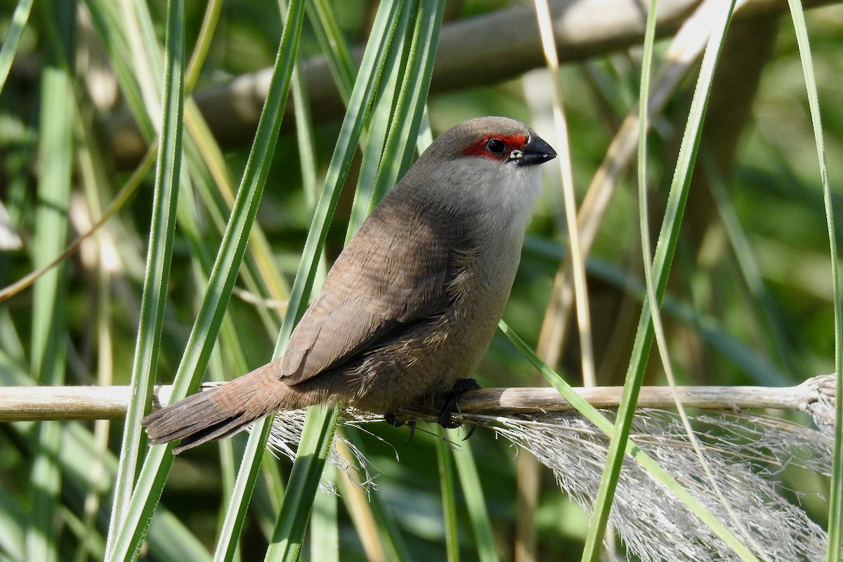
{"label": "blurred green foliage in the background behind bird and grass blades", "polygon": [[[332,3],[342,32],[351,45],[362,44],[377,3],[354,0]],[[0,2],[0,37],[11,25],[16,3]],[[94,145],[89,149],[101,158],[107,174],[105,183],[91,188],[81,169],[83,159],[75,160],[72,174],[72,201],[69,217],[71,238],[85,232],[101,211],[110,204],[131,170],[119,169],[110,160],[109,137],[105,134],[110,120],[126,112],[125,99],[101,101],[89,89],[116,88],[110,64],[87,17],[82,13],[95,3],[79,3],[74,28],[73,91],[76,100],[74,135],[83,147],[83,129],[90,131]],[[35,256],[32,241],[37,229],[36,211],[40,201],[35,185],[51,166],[49,155],[37,155],[38,140],[51,123],[41,117],[40,85],[44,68],[56,49],[56,22],[49,2],[36,2],[30,21],[14,56],[8,80],[0,92],[0,201],[8,210],[11,226],[24,241],[16,251],[0,250],[0,285],[7,286],[45,260]],[[480,0],[448,3],[446,19],[475,17],[482,13],[510,9],[503,1]],[[156,33],[163,45],[166,5],[149,5]],[[190,53],[200,31],[206,3],[186,5],[185,35]],[[447,25],[447,21],[446,21]],[[668,343],[680,383],[709,385],[796,384],[806,377],[833,372],[834,333],[831,307],[828,233],[825,227],[822,186],[819,182],[813,131],[805,97],[803,71],[799,62],[792,24],[787,15],[777,24],[776,47],[763,65],[757,94],[754,95],[746,125],[727,131],[737,137],[737,149],[731,154],[733,167],[724,174],[726,205],[738,219],[739,234],[749,242],[751,254],[744,256],[760,270],[767,295],[750,288],[741,273],[733,251],[733,241],[723,226],[721,210],[710,195],[693,198],[686,209],[685,231],[674,263],[668,288],[673,302],[690,307],[695,320],[710,321],[715,337],[701,333],[699,325],[679,319],[668,307]],[[281,35],[278,5],[275,2],[232,0],[223,4],[213,35],[211,49],[196,84],[201,92],[245,72],[271,66]],[[843,106],[840,76],[843,75],[843,8],[839,5],[813,9],[808,13],[814,67],[819,82],[819,99],[824,119],[825,142],[830,162],[831,184],[840,184],[843,162]],[[663,45],[659,45],[663,47]],[[318,56],[318,40],[305,23],[300,56]],[[584,195],[588,182],[604,158],[620,120],[636,104],[639,82],[638,53],[611,52],[588,63],[569,64],[560,80],[566,106],[572,161],[577,192]],[[96,64],[94,64],[96,62]],[[724,57],[722,64],[730,64]],[[101,65],[101,66],[100,66]],[[97,73],[104,69],[103,73]],[[95,72],[96,71],[96,72]],[[537,71],[540,72],[540,71]],[[533,123],[540,131],[551,131],[548,107],[533,99],[534,76],[497,82],[490,77],[487,86],[434,94],[428,99],[434,134],[455,123],[477,115],[508,115]],[[715,95],[728,99],[743,97],[741,88],[753,84],[733,83],[734,91],[722,88]],[[658,224],[666,197],[674,158],[687,116],[693,78],[668,104],[652,135],[652,222]],[[319,107],[311,112],[318,114]],[[314,127],[314,148],[319,178],[324,174],[339,131],[339,120],[319,120]],[[542,133],[544,135],[544,133]],[[224,139],[219,139],[224,144]],[[706,147],[715,147],[721,139],[705,136]],[[733,142],[732,140],[726,141]],[[224,155],[228,175],[239,179],[243,173],[249,146],[228,149]],[[707,158],[703,154],[703,158]],[[698,162],[701,167],[702,159]],[[357,166],[359,163],[355,163]],[[352,171],[352,174],[356,173]],[[545,174],[545,195],[537,206],[524,246],[521,269],[504,318],[530,345],[535,345],[542,317],[549,300],[553,276],[566,254],[565,227],[561,212],[558,172]],[[235,180],[236,184],[236,180]],[[351,185],[350,180],[347,184]],[[86,187],[87,186],[87,187]],[[700,180],[692,187],[709,190]],[[142,291],[143,260],[149,233],[152,206],[152,174],[129,204],[110,220],[99,242],[89,241],[64,262],[67,274],[67,383],[128,384],[132,372],[134,342],[137,337],[138,308]],[[196,197],[194,210],[201,236],[210,255],[216,254],[220,232],[212,220],[207,203]],[[326,254],[328,260],[341,250],[352,202],[352,187],[343,194],[333,217]],[[834,194],[835,213],[843,216],[843,199]],[[294,132],[283,132],[277,143],[257,223],[269,241],[274,266],[287,284],[292,284],[312,209],[301,188],[301,169]],[[225,217],[223,217],[224,220]],[[838,222],[838,235],[843,227]],[[687,226],[691,225],[691,226]],[[696,227],[696,230],[694,228]],[[602,222],[590,256],[589,285],[600,383],[620,384],[629,361],[641,293],[628,285],[642,283],[642,265],[637,230],[634,176],[620,185]],[[196,254],[191,244],[176,229],[169,301],[164,319],[162,358],[158,380],[169,382],[184,350],[188,330],[196,314],[203,286],[196,276]],[[47,256],[52,257],[52,256]],[[244,286],[239,284],[239,288]],[[269,295],[260,295],[269,297]],[[762,306],[762,300],[769,308]],[[33,383],[30,367],[33,309],[31,290],[0,302],[0,386]],[[239,334],[249,367],[257,367],[271,356],[277,332],[267,329],[266,318],[277,324],[277,309],[261,315],[253,299],[235,295],[228,316]],[[263,306],[263,305],[259,305]],[[769,314],[768,314],[769,313]],[[275,325],[277,328],[277,325]],[[104,335],[102,330],[105,329]],[[578,350],[576,329],[569,329],[561,372],[577,384]],[[774,334],[781,335],[776,338]],[[107,337],[106,337],[107,336]],[[732,347],[717,345],[728,341]],[[731,353],[724,350],[732,350]],[[737,349],[738,351],[734,351]],[[215,375],[236,377],[233,361],[223,358]],[[749,368],[748,365],[754,366]],[[662,384],[662,369],[651,361],[649,383]],[[483,386],[528,386],[534,381],[529,364],[501,335],[496,335],[477,378]],[[0,389],[2,392],[2,389]],[[122,426],[111,422],[94,430],[93,422],[67,422],[65,436],[86,436],[96,431],[95,440],[110,452],[120,450]],[[371,431],[371,435],[368,434]],[[383,502],[393,518],[406,549],[413,559],[445,559],[444,527],[439,497],[435,437],[424,428],[406,442],[405,428],[386,424],[367,426],[367,432],[354,431],[355,439],[369,460],[380,471],[377,490],[369,492]],[[0,424],[0,560],[22,560],[24,536],[32,522],[33,495],[30,472],[35,452],[32,442],[37,434],[32,423]],[[459,439],[459,433],[454,438]],[[74,439],[77,437],[73,437]],[[234,437],[234,448],[242,449],[243,435]],[[516,449],[491,433],[478,431],[472,438],[475,462],[481,471],[491,522],[502,559],[512,559],[516,517]],[[74,449],[75,450],[75,449]],[[92,467],[99,467],[105,450],[92,449]],[[236,455],[235,455],[236,457]],[[113,459],[113,457],[109,457]],[[177,458],[161,503],[183,527],[174,531],[172,540],[198,540],[209,549],[216,542],[222,509],[222,471],[216,446],[201,447]],[[108,465],[108,463],[104,463]],[[280,473],[287,474],[286,459],[278,462]],[[62,471],[62,490],[56,492],[56,556],[62,560],[98,559],[103,553],[113,474],[106,468],[97,474],[74,477]],[[91,477],[79,490],[72,491],[72,481]],[[74,480],[74,478],[76,480]],[[587,518],[566,497],[556,491],[550,474],[542,474],[543,493],[535,525],[539,533],[540,559],[578,559]],[[824,480],[811,474],[781,475],[784,484],[810,492],[798,501],[810,515],[822,522],[824,500],[816,492],[824,490]],[[277,499],[271,497],[270,479],[261,479],[255,492],[255,505],[244,531],[241,557],[262,556],[267,533],[271,532]],[[70,490],[70,491],[68,491]],[[87,496],[85,495],[87,494]],[[345,496],[343,496],[345,497]],[[87,499],[86,499],[87,498]],[[352,523],[351,509],[340,500],[339,533],[341,559],[366,559],[364,547]],[[88,503],[85,503],[88,502]],[[458,502],[458,505],[459,502]],[[97,514],[100,515],[97,515]],[[461,513],[460,543],[463,559],[476,559],[471,527]],[[184,534],[180,534],[184,533]],[[145,549],[141,559],[168,558],[156,547]]]}

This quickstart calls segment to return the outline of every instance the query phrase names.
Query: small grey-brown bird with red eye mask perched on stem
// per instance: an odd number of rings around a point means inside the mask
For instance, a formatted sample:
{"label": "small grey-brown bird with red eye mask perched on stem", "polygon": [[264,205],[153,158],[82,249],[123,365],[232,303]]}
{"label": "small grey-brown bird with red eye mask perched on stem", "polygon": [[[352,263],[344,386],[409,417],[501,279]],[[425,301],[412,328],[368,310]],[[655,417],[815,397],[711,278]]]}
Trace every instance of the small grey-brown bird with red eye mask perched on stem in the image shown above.
{"label": "small grey-brown bird with red eye mask perched on stem", "polygon": [[174,452],[230,436],[279,409],[328,403],[395,422],[405,404],[479,388],[470,374],[513,286],[524,231],[556,152],[507,117],[439,135],[362,222],[282,356],[142,420]]}

